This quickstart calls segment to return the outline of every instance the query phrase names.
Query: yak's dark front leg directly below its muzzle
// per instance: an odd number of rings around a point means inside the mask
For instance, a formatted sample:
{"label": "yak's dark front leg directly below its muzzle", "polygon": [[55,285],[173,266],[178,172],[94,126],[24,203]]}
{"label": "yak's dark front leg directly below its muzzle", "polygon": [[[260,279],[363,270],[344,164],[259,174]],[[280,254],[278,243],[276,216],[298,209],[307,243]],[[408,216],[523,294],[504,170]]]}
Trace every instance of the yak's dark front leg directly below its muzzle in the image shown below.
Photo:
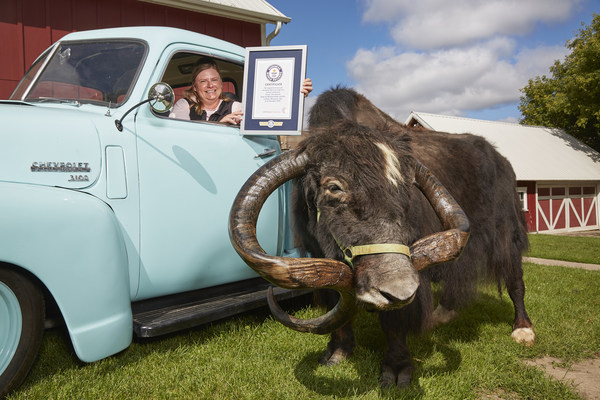
{"label": "yak's dark front leg directly below its muzzle", "polygon": [[399,323],[399,313],[403,310],[381,311],[379,322],[385,333],[388,348],[383,356],[381,365],[382,387],[397,385],[405,387],[410,385],[412,374],[415,369],[410,351],[406,345],[406,329]]}

